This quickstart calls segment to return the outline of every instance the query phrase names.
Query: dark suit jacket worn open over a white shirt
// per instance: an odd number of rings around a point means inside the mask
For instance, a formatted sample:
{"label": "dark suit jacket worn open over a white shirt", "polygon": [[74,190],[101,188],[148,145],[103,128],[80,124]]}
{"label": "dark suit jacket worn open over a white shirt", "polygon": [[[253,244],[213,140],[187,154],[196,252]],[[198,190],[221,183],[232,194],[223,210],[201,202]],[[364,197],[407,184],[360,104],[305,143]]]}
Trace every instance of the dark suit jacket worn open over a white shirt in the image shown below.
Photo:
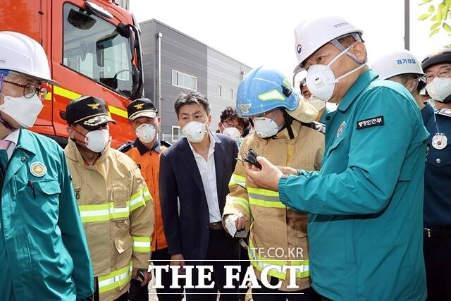
{"label": "dark suit jacket worn open over a white shirt", "polygon": [[[226,135],[211,135],[216,141],[216,188],[222,215],[238,147],[235,140]],[[186,138],[175,142],[161,154],[159,192],[169,254],[183,254],[185,260],[205,259],[209,245],[209,208],[199,168]],[[229,240],[230,235],[227,237]],[[228,245],[230,243],[233,243],[231,238]]]}

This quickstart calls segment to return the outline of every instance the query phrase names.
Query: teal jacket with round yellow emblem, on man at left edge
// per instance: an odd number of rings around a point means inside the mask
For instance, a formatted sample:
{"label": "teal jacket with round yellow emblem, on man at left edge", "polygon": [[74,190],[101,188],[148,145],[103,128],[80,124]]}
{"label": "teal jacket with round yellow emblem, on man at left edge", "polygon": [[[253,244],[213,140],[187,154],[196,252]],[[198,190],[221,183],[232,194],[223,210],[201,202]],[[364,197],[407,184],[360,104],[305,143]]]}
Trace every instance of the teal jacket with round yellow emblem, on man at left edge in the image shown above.
{"label": "teal jacket with round yellow emblem, on man at left edge", "polygon": [[54,140],[20,130],[0,205],[1,300],[80,300],[94,293],[66,157]]}

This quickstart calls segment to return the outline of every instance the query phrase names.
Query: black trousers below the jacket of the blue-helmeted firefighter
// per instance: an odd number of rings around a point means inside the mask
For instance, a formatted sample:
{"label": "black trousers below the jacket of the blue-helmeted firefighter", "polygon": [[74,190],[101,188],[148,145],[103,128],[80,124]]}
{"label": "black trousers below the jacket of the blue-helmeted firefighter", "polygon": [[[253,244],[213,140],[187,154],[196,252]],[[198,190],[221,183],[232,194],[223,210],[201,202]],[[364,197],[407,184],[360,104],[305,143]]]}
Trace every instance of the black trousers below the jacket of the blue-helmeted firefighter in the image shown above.
{"label": "black trousers below the jacket of the blue-helmeted firefighter", "polygon": [[[278,283],[277,278],[271,277],[271,285]],[[259,281],[261,288],[252,288],[252,300],[254,301],[320,301],[321,296],[313,288],[296,290],[294,292],[283,292],[275,288],[266,288]],[[302,295],[301,295],[302,294]]]}

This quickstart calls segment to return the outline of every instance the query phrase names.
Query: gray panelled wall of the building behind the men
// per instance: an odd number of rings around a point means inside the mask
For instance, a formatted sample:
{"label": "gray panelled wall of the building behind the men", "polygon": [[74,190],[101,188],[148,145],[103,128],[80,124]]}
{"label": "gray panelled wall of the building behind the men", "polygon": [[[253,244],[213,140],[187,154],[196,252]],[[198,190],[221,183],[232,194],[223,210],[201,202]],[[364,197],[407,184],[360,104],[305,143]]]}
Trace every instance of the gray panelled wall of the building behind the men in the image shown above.
{"label": "gray panelled wall of the building behind the men", "polygon": [[[190,90],[173,85],[173,70],[177,70],[197,78],[197,91],[209,99],[215,131],[221,111],[230,105],[235,107],[237,85],[242,80],[242,72],[248,73],[250,68],[243,63],[211,49],[206,44],[175,30],[158,20],[140,23],[142,30],[141,43],[144,66],[144,94],[158,106],[158,65],[157,35],[161,39],[161,134],[164,140],[172,142],[173,126],[178,126],[173,105],[180,93]],[[218,95],[218,85],[224,90],[233,90],[233,97]]]}

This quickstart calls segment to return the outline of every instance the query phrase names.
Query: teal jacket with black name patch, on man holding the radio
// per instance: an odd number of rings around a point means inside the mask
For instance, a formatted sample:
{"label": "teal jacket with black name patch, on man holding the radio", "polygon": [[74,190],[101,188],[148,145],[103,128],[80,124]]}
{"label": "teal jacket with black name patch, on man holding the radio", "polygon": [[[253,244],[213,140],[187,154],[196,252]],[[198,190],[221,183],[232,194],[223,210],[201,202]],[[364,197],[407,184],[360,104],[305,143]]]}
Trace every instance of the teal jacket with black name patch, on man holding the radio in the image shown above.
{"label": "teal jacket with black name patch, on man holding the radio", "polygon": [[360,75],[326,118],[321,171],[281,178],[280,201],[307,211],[314,289],[331,300],[425,300],[426,138],[402,85]]}

